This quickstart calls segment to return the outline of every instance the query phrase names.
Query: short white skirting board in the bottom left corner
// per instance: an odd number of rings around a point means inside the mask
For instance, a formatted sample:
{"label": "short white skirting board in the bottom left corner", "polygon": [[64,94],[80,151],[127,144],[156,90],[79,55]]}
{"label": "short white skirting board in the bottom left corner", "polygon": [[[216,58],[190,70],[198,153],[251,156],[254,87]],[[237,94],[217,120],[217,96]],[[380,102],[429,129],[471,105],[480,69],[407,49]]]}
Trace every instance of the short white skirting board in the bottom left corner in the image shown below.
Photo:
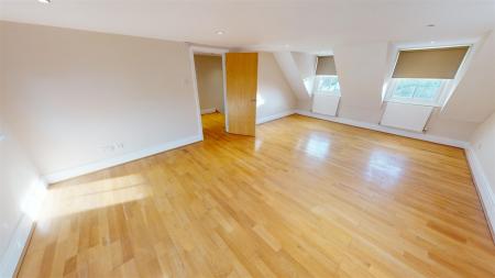
{"label": "short white skirting board in the bottom left corner", "polygon": [[14,277],[15,268],[21,262],[24,247],[30,238],[33,221],[24,214],[10,240],[9,246],[0,260],[0,277]]}

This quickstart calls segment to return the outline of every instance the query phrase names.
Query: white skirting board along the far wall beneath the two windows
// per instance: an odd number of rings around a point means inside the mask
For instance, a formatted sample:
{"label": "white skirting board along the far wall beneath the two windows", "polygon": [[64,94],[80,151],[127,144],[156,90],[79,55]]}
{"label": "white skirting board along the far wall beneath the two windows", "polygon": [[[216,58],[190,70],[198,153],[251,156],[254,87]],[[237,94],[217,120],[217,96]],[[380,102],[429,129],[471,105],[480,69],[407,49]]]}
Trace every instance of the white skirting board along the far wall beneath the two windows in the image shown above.
{"label": "white skirting board along the far wall beneath the two windows", "polygon": [[396,129],[387,127],[387,126],[380,125],[380,124],[366,123],[366,122],[354,121],[354,120],[343,119],[343,118],[322,115],[322,114],[317,114],[317,113],[312,113],[312,112],[309,112],[306,110],[300,110],[300,109],[296,110],[296,113],[306,115],[306,116],[317,118],[320,120],[327,120],[330,122],[353,125],[353,126],[358,126],[358,127],[385,132],[385,133],[395,134],[395,135],[399,135],[399,136],[404,136],[404,137],[428,141],[428,142],[442,144],[442,145],[449,145],[449,146],[454,146],[454,147],[460,147],[460,148],[468,148],[470,146],[470,144],[465,141],[452,140],[452,138],[448,138],[448,137],[441,137],[441,136],[424,134],[424,133],[416,133],[416,132],[410,132],[410,131],[396,130]]}

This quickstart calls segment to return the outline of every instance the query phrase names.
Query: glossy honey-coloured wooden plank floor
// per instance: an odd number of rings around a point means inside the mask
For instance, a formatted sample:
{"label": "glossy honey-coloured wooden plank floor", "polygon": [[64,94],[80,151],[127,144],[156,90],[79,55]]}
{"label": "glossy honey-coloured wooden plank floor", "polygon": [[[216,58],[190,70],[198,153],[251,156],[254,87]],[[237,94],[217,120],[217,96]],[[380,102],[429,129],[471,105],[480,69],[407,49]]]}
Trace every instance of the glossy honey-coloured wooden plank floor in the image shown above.
{"label": "glossy honey-coloured wooden plank floor", "polygon": [[20,277],[495,277],[463,151],[292,115],[50,189]]}

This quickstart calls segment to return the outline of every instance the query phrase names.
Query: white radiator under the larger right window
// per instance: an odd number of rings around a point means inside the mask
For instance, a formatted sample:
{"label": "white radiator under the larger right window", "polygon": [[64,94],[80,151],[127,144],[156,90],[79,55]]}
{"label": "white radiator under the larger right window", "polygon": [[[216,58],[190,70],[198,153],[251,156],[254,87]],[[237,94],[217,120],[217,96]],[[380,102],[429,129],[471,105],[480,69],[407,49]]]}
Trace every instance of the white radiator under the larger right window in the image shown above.
{"label": "white radiator under the larger right window", "polygon": [[422,132],[432,111],[433,107],[387,102],[381,124]]}

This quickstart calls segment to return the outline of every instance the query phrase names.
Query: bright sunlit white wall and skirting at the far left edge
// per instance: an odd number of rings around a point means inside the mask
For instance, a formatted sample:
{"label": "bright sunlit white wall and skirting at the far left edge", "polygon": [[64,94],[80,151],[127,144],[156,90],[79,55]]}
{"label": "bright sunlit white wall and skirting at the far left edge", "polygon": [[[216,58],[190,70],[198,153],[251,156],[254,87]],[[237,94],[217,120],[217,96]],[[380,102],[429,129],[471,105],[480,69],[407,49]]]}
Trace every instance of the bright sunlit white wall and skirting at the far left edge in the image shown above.
{"label": "bright sunlit white wall and skirting at the far left edge", "polygon": [[[0,98],[2,103],[3,100]],[[45,185],[1,113],[0,136],[4,136],[0,138],[0,277],[10,277],[43,200],[41,191]]]}

